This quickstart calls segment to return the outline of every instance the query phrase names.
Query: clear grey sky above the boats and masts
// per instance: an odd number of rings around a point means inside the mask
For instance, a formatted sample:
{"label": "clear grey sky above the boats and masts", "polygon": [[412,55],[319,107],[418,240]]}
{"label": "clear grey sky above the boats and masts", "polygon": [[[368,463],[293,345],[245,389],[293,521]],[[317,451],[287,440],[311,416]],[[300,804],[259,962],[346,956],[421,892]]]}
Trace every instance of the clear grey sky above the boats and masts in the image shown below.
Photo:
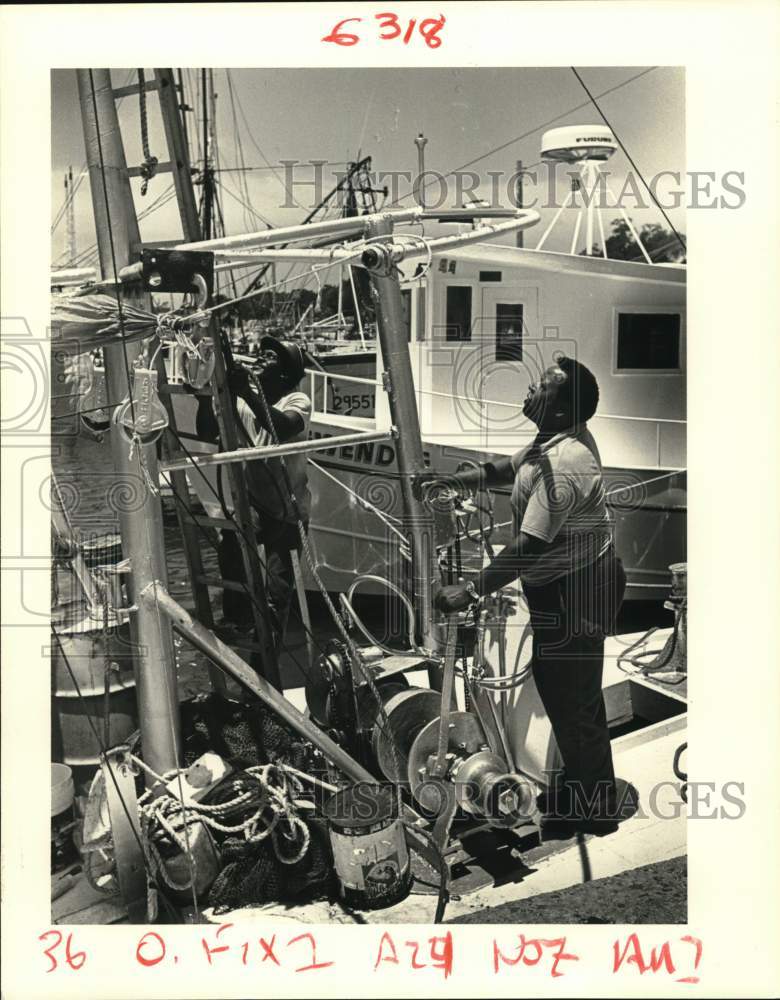
{"label": "clear grey sky above the boats and masts", "polygon": [[[587,67],[578,72],[601,110],[609,119],[637,167],[646,179],[660,171],[685,172],[685,74],[675,67]],[[135,71],[114,70],[115,86],[135,82]],[[282,160],[328,160],[324,168],[323,193],[335,183],[332,172],[354,160],[358,151],[372,156],[376,171],[411,171],[417,169],[415,136],[422,132],[428,140],[425,148],[427,170],[441,173],[470,164],[468,169],[484,178],[478,196],[491,197],[489,171],[508,176],[522,160],[526,168],[537,172],[535,186],[528,182],[526,197],[544,199],[547,174],[540,161],[542,126],[566,124],[601,124],[598,111],[590,103],[580,83],[567,67],[547,68],[447,68],[447,69],[215,69],[217,94],[216,121],[219,162],[223,168],[222,205],[229,233],[262,229],[260,221],[251,221],[240,204],[240,175],[225,168],[238,163],[240,137],[244,163],[261,169],[243,174],[251,206],[275,226],[294,225],[312,207],[311,186],[296,187],[293,196],[298,205],[285,207],[284,168]],[[637,74],[643,73],[637,79]],[[197,105],[194,86],[199,72],[185,70],[185,89]],[[147,78],[152,71],[147,70]],[[233,101],[231,102],[231,89]],[[609,93],[605,93],[609,91]],[[603,95],[603,96],[599,96]],[[237,128],[234,125],[233,107]],[[562,116],[562,117],[559,117]],[[140,119],[137,95],[125,98],[119,108],[120,125],[129,164],[142,160]],[[148,96],[151,153],[167,159],[156,96]],[[198,133],[196,115],[188,114],[188,128]],[[553,119],[556,119],[553,121]],[[549,125],[547,124],[549,123]],[[520,137],[520,138],[518,138]],[[503,147],[503,148],[501,148]],[[72,166],[74,176],[85,164],[81,115],[74,70],[52,72],[52,222],[64,201],[63,175]],[[471,162],[476,161],[476,162]],[[275,170],[269,169],[269,164]],[[619,192],[630,168],[622,151],[609,162],[609,184]],[[296,178],[313,179],[311,167],[296,168]],[[133,181],[136,209],[140,213],[170,185],[167,174],[159,174],[150,184],[147,195],[140,196],[140,182]],[[503,185],[502,181],[502,185]],[[667,179],[659,194],[675,186]],[[569,181],[558,168],[557,192],[562,199]],[[411,185],[400,181],[401,196]],[[437,185],[430,192],[435,197]],[[454,186],[448,205],[454,206]],[[649,199],[648,199],[649,200]],[[667,197],[668,202],[668,197]],[[401,205],[408,207],[407,197]],[[637,225],[666,223],[659,210],[650,205],[636,208],[626,202]],[[526,246],[535,245],[554,209],[541,210],[542,219],[526,233]],[[568,250],[576,213],[563,213],[546,247]],[[605,210],[608,228],[617,211]],[[674,225],[685,230],[684,209],[668,209]],[[85,178],[75,196],[76,244],[79,252],[95,242],[89,181]],[[449,231],[452,231],[451,229]],[[584,231],[584,227],[583,227]],[[141,223],[145,241],[174,239],[181,235],[175,203],[169,202],[152,212]],[[503,237],[501,242],[511,242]],[[61,219],[52,235],[52,259],[66,253],[66,226]]]}

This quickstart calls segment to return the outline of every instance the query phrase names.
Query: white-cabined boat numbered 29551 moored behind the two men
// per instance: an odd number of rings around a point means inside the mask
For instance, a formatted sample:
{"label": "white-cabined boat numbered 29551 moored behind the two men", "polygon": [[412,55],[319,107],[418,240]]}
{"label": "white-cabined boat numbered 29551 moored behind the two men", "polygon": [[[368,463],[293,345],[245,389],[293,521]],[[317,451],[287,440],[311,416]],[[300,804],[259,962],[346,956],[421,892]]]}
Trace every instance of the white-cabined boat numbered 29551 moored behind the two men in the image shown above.
{"label": "white-cabined boat numbered 29551 moored behind the two men", "polygon": [[[590,184],[614,149],[609,130],[594,126],[554,129],[542,142],[543,156],[578,164]],[[534,249],[481,243],[436,252],[417,276],[419,260],[404,265],[420,430],[426,460],[444,473],[512,454],[535,432],[521,409],[529,382],[558,352],[582,361],[600,387],[590,426],[626,567],[626,597],[658,600],[669,589],[668,567],[685,559],[686,271],[652,263],[627,216],[643,260],[575,253],[582,216],[586,246],[594,219],[603,244],[591,201],[580,209],[570,253],[544,249],[551,224]],[[389,428],[386,401],[377,394],[381,356],[338,361],[331,370],[309,371],[312,436]],[[356,574],[393,561],[397,539],[361,501],[378,499],[383,515],[400,517],[394,445],[334,449],[317,458],[310,475],[322,578],[342,591]],[[492,499],[491,526],[501,544],[511,523],[509,491]]]}

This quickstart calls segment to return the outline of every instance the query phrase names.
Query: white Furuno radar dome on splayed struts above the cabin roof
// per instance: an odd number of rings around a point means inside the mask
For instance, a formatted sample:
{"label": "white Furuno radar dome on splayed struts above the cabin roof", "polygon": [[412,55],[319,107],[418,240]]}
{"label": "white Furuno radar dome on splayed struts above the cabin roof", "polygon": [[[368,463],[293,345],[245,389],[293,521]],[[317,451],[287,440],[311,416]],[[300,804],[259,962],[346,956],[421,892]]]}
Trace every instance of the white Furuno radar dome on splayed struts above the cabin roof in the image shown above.
{"label": "white Furuno radar dome on splayed struts above the cabin roof", "polygon": [[[601,217],[601,208],[603,206],[599,204],[599,197],[602,191],[605,194],[612,194],[607,184],[606,175],[602,173],[602,164],[606,163],[616,149],[618,149],[617,140],[612,134],[611,129],[608,129],[605,125],[564,125],[561,128],[553,128],[544,133],[542,136],[542,159],[548,163],[569,163],[576,165],[579,176],[572,177],[571,191],[555,213],[550,225],[542,233],[539,242],[536,244],[537,250],[543,248],[547,237],[555,227],[567,203],[575,207],[577,193],[581,192],[583,204],[578,208],[569,252],[572,254],[577,252],[577,240],[579,239],[584,215],[585,254],[590,257],[593,253],[593,224],[595,221],[599,227],[601,254],[606,259],[607,246],[604,238],[604,222]],[[645,260],[648,264],[652,264],[650,255],[640,240],[639,234],[628,217],[626,210],[617,200],[615,203],[637,246],[642,251]]]}

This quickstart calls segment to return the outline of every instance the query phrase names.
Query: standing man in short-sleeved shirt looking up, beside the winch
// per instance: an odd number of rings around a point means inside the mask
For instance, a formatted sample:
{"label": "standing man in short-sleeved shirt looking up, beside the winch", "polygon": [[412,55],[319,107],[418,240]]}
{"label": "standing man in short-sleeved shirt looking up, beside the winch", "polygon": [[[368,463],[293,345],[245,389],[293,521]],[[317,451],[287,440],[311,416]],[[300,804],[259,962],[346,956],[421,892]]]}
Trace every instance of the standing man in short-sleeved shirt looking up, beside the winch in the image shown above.
{"label": "standing man in short-sleeved shirt looking up, beside the winch", "polygon": [[514,538],[467,584],[442,587],[440,611],[460,611],[520,577],[533,629],[532,670],[563,759],[543,819],[553,832],[615,828],[616,784],[601,692],[604,637],[614,629],[625,573],[612,541],[601,461],[586,422],[598,404],[593,374],[570,358],[528,390],[531,445],[459,473],[460,486],[512,484]]}

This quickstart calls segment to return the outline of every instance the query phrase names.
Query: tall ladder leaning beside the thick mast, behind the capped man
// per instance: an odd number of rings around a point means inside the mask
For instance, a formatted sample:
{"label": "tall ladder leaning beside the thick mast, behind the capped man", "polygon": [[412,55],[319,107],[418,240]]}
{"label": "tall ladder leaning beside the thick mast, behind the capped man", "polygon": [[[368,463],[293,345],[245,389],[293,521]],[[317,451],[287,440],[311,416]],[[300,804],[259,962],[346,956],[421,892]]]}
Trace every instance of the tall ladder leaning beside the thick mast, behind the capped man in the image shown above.
{"label": "tall ladder leaning beside the thick mast, behind the capped man", "polygon": [[[169,159],[158,163],[155,173],[169,172],[173,175],[183,239],[186,242],[195,242],[201,239],[201,227],[195,203],[187,143],[182,126],[181,106],[177,94],[178,89],[173,77],[173,71],[170,69],[155,69],[154,79],[144,81],[145,91],[157,92],[165,130],[165,140],[168,147]],[[116,100],[131,94],[139,94],[140,90],[140,85],[136,83],[127,87],[117,88],[113,94]],[[128,168],[128,175],[130,177],[142,176],[143,168],[130,167]],[[141,248],[137,249],[140,252]],[[211,336],[214,345],[215,358],[214,374],[210,383],[214,413],[219,427],[221,447],[232,451],[239,447],[238,430],[230,390],[227,387],[227,365],[222,348],[221,333],[218,321],[213,317],[208,334]],[[179,449],[178,428],[176,426],[173,400],[171,398],[172,391],[175,391],[176,387],[168,385],[162,352],[157,364],[160,398],[167,411],[169,421],[168,428],[162,440],[163,458],[167,462],[177,458],[185,458],[186,455]],[[243,469],[243,465],[239,463],[231,463],[227,466],[228,481],[234,505],[232,519],[215,519],[193,513],[186,503],[186,498],[189,497],[186,472],[181,470],[171,471],[168,475],[170,476],[171,487],[175,494],[176,518],[184,545],[187,572],[198,620],[206,628],[219,634],[220,630],[215,628],[209,586],[247,591],[252,601],[256,641],[242,643],[242,655],[248,652],[250,655],[249,657],[245,656],[245,658],[248,660],[251,658],[253,665],[259,673],[269,683],[273,684],[277,690],[281,691],[281,677],[276,650],[268,625],[268,602],[260,557],[257,546],[254,544],[255,533],[252,525],[251,508]],[[234,531],[236,533],[244,564],[246,584],[220,580],[218,578],[214,579],[207,576],[201,555],[201,544],[204,533],[208,529],[214,528],[219,528],[223,531]],[[255,655],[253,656],[252,654]],[[224,674],[211,664],[209,664],[209,678],[212,689],[224,693]]]}

